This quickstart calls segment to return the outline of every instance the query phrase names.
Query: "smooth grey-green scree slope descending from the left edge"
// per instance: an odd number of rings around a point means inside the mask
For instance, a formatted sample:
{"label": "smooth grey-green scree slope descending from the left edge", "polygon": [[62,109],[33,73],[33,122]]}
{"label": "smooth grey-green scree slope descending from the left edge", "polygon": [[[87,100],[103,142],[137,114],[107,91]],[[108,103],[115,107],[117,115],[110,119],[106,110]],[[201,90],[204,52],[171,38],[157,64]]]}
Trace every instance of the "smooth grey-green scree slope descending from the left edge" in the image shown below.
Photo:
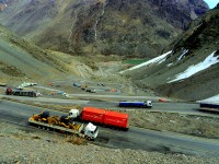
{"label": "smooth grey-green scree slope descending from the left edge", "polygon": [[35,79],[69,72],[68,63],[0,25],[0,75]]}

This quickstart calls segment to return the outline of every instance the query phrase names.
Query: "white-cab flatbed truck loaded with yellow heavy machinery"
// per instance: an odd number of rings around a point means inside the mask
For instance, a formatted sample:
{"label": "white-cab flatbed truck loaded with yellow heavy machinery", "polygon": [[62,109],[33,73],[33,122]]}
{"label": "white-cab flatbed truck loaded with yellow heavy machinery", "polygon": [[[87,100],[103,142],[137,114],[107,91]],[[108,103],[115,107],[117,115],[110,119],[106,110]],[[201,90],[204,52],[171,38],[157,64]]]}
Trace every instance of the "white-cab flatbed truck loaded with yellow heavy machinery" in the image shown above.
{"label": "white-cab flatbed truck loaded with yellow heavy machinery", "polygon": [[99,128],[92,122],[84,126],[83,124],[71,121],[69,116],[50,116],[49,112],[33,115],[28,118],[28,122],[44,129],[73,133],[88,140],[94,140],[99,134]]}

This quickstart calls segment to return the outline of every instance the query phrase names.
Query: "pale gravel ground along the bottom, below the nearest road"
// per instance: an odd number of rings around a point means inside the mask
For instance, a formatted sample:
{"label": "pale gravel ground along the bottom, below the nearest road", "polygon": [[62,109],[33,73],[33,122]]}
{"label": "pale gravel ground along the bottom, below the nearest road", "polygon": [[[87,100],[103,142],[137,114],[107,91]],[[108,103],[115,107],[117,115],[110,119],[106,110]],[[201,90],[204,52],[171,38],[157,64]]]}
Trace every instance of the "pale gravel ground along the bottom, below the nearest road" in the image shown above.
{"label": "pale gravel ground along the bottom, below the nearest road", "polygon": [[65,138],[47,138],[38,132],[25,132],[0,124],[0,163],[21,164],[72,164],[72,163],[132,163],[132,164],[217,164],[218,157],[187,156],[183,154],[162,154],[141,150],[118,150],[93,144],[76,145]]}

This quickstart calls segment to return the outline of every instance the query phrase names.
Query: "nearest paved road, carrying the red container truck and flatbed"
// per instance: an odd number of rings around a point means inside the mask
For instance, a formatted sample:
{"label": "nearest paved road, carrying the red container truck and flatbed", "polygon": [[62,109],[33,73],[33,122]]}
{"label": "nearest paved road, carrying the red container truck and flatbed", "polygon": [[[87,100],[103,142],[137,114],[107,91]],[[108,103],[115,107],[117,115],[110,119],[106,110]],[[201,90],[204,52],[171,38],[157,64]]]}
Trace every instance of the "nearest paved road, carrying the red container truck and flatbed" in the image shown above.
{"label": "nearest paved road, carrying the red container truck and flatbed", "polygon": [[[41,113],[37,107],[0,101],[0,119],[27,125],[27,118]],[[51,115],[62,115],[50,110]],[[195,138],[172,132],[159,132],[130,127],[128,131],[100,128],[95,144],[117,149],[141,149],[165,153],[185,153],[199,155],[219,155],[219,141]]]}

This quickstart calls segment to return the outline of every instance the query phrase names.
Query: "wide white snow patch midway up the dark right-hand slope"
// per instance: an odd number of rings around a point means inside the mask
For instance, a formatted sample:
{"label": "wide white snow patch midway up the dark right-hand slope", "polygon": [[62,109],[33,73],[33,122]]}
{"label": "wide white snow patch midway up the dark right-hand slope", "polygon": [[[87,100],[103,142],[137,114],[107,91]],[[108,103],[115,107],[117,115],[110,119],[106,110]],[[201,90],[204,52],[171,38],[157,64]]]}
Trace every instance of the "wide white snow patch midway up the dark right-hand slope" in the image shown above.
{"label": "wide white snow patch midway up the dark right-hand slope", "polygon": [[197,65],[193,65],[191,67],[187,68],[187,70],[185,70],[184,72],[176,74],[175,79],[172,81],[169,81],[168,83],[172,83],[175,81],[180,81],[183,79],[187,79],[189,77],[192,77],[193,74],[196,74],[205,69],[208,69],[209,67],[211,67],[212,65],[216,65],[219,62],[219,57],[215,56],[216,51],[214,51],[212,54],[210,54],[203,62],[199,62]]}

